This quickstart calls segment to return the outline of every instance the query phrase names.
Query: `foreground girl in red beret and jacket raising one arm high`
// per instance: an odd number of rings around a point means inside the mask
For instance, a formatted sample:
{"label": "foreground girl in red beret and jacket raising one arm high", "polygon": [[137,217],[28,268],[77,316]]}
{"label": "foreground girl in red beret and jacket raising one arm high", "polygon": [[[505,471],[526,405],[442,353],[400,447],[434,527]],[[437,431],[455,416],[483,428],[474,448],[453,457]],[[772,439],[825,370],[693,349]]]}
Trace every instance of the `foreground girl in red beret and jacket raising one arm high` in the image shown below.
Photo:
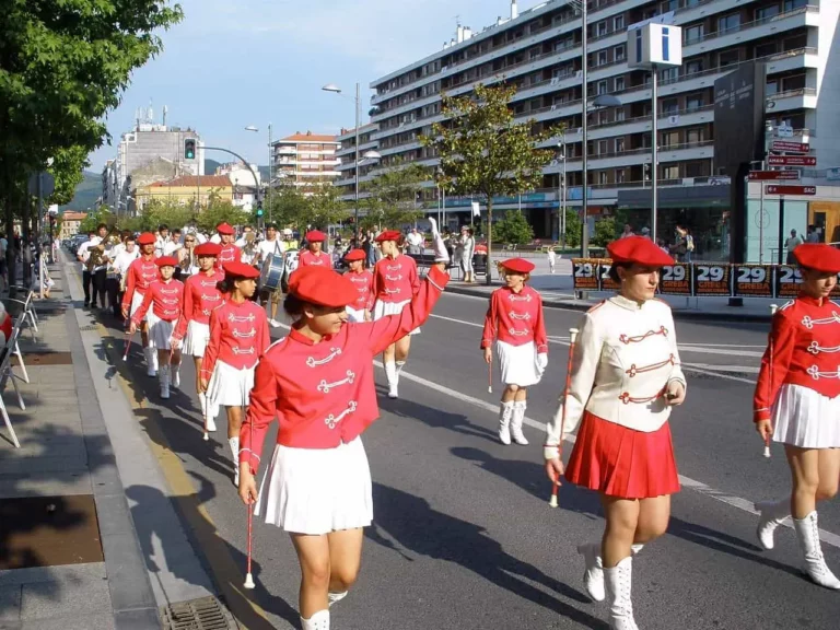
{"label": "foreground girl in red beret and jacket raising one arm high", "polygon": [[[257,366],[240,433],[240,497],[291,536],[303,630],[329,630],[329,607],[355,582],[363,527],[373,520],[361,440],[378,417],[373,358],[429,317],[447,280],[443,264],[434,264],[399,314],[349,324],[345,307],[358,291],[348,278],[304,267],[290,279],[284,308],[294,324]],[[254,476],[275,418],[277,445],[258,494]]]}

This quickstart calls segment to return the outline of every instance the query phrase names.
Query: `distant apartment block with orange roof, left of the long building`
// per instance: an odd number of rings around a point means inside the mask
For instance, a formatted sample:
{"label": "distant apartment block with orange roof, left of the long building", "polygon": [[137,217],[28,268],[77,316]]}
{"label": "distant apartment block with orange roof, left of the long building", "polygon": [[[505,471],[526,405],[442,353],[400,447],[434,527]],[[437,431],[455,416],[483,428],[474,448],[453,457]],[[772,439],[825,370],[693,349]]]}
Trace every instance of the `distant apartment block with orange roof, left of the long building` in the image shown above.
{"label": "distant apartment block with orange roof, left of the long building", "polygon": [[339,176],[338,149],[335,136],[312,131],[298,131],[276,140],[271,144],[271,158],[277,183],[295,186],[304,194],[325,184],[331,185]]}

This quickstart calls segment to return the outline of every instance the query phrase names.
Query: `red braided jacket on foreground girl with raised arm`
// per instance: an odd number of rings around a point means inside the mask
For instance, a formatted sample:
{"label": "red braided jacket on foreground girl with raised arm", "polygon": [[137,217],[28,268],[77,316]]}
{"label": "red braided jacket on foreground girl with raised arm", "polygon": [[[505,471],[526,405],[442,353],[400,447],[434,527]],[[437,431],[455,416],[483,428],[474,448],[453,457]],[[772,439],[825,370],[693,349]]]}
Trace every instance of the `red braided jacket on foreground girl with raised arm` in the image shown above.
{"label": "red braided jacket on foreground girl with raised arm", "polygon": [[360,435],[380,415],[373,358],[425,322],[448,279],[432,268],[399,315],[346,324],[319,343],[294,329],[273,343],[257,365],[240,432],[240,462],[256,472],[275,417],[280,422],[277,443],[285,446],[335,448]]}

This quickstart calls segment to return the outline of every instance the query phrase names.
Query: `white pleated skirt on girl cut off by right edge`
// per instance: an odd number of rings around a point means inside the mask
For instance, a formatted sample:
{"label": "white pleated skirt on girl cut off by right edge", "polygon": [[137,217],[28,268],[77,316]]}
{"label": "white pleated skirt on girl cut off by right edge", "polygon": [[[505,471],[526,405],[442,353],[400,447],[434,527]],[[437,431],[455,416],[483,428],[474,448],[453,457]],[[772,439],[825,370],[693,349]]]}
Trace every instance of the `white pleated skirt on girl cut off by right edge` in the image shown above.
{"label": "white pleated skirt on girl cut off by right edge", "polygon": [[800,448],[840,448],[840,396],[782,385],[773,405],[773,442]]}

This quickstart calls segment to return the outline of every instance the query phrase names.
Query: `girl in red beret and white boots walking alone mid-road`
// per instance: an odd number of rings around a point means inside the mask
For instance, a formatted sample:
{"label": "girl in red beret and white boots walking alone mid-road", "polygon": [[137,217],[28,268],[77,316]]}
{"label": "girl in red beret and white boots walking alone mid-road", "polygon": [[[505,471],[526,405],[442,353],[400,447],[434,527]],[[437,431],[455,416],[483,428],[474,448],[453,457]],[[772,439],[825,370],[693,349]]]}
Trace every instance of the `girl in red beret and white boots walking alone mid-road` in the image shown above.
{"label": "girl in red beret and white boots walking alone mid-road", "polygon": [[548,365],[548,337],[542,320],[542,299],[527,287],[534,264],[510,258],[501,264],[505,287],[490,296],[485,317],[481,349],[485,361],[493,361],[493,341],[502,371],[502,400],[499,410],[499,440],[527,444],[522,432],[527,407],[527,387],[536,385]]}

